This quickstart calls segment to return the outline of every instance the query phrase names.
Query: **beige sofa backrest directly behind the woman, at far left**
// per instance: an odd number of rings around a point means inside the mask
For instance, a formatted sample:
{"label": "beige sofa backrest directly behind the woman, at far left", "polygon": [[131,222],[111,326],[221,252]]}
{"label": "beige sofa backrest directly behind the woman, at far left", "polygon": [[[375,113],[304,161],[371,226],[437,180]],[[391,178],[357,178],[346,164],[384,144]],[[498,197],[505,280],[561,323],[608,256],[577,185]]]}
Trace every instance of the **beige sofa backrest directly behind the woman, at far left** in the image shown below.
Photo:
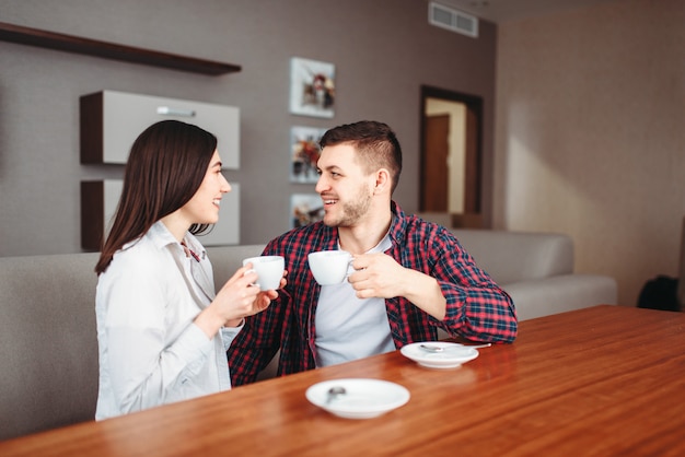
{"label": "beige sofa backrest directly behind the woman, at far left", "polygon": [[[263,247],[208,251],[228,278]],[[0,257],[0,440],[95,417],[96,261],[97,254]]]}

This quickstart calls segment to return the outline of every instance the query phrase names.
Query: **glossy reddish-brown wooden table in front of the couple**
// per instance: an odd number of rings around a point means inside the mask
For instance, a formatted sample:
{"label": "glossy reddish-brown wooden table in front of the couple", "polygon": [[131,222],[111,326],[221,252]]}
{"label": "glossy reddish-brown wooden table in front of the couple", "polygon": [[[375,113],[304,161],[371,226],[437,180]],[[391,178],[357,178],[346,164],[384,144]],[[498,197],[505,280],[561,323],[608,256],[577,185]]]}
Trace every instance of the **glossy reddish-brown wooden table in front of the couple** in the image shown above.
{"label": "glossy reddish-brown wooden table in front of the couple", "polygon": [[[409,402],[368,420],[304,397],[387,379]],[[685,314],[596,306],[520,324],[460,368],[399,351],[0,443],[1,456],[685,455]]]}

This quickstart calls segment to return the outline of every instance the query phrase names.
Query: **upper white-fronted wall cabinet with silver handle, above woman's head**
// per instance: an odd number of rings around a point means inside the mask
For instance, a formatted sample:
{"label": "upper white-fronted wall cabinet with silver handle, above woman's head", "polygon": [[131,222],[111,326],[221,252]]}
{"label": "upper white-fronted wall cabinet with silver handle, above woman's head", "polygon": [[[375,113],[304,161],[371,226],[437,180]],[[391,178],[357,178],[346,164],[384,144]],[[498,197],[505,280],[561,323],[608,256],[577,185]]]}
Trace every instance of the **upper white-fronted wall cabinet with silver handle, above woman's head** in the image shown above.
{"label": "upper white-fronted wall cabinet with silver handle, above woman's head", "polygon": [[80,99],[81,163],[125,164],[136,138],[164,119],[213,133],[224,168],[240,167],[240,110],[233,106],[102,91]]}

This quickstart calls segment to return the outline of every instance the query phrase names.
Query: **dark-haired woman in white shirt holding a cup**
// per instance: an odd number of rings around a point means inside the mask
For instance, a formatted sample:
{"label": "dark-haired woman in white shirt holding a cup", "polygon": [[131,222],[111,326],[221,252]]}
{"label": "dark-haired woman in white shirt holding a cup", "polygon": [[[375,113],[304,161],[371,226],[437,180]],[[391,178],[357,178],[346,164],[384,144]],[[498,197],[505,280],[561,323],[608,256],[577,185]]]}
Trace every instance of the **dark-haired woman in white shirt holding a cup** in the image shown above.
{"label": "dark-haired woman in white shirt holding a cup", "polygon": [[278,293],[252,286],[257,276],[247,265],[214,294],[211,263],[194,234],[219,220],[230,190],[217,139],[199,127],[165,120],[135,141],[95,267],[95,419],[231,388],[225,351],[243,317]]}

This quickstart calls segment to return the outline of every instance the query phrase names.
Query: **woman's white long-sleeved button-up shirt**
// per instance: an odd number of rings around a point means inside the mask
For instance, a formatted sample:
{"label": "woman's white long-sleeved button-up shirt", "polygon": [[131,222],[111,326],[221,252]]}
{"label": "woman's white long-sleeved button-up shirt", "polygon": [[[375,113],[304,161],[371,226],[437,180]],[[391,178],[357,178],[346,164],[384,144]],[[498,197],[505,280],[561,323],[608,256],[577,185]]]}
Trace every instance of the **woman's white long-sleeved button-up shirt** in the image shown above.
{"label": "woman's white long-sleeved button-up shirt", "polygon": [[156,222],[98,278],[96,420],[231,388],[225,351],[242,327],[210,340],[193,323],[214,282],[202,245],[189,233],[185,241],[199,262]]}

